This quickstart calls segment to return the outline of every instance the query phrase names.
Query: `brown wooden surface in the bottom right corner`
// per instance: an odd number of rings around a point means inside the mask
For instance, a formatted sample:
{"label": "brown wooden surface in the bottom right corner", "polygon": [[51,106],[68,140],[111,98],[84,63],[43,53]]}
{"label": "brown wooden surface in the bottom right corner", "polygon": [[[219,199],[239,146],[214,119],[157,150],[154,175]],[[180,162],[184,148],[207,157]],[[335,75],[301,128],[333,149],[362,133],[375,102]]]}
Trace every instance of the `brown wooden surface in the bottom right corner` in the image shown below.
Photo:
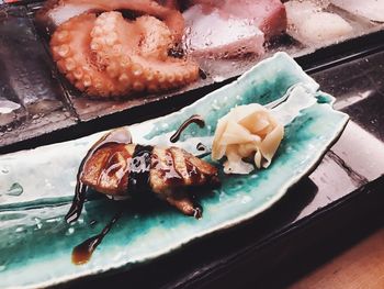
{"label": "brown wooden surface in the bottom right corner", "polygon": [[289,288],[384,288],[384,229],[369,235]]}

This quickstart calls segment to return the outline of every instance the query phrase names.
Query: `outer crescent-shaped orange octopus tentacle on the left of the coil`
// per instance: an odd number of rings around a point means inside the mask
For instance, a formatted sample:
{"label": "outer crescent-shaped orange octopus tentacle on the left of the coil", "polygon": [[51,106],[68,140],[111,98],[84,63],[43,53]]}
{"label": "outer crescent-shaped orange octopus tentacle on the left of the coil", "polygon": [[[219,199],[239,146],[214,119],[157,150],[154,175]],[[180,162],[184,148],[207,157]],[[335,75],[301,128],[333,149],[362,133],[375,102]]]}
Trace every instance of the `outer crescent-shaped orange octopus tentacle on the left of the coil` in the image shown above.
{"label": "outer crescent-shaped orange octopus tentacle on the left of the coil", "polygon": [[50,40],[53,58],[79,90],[101,97],[123,93],[125,88],[99,67],[88,48],[95,19],[94,14],[81,14],[60,25]]}

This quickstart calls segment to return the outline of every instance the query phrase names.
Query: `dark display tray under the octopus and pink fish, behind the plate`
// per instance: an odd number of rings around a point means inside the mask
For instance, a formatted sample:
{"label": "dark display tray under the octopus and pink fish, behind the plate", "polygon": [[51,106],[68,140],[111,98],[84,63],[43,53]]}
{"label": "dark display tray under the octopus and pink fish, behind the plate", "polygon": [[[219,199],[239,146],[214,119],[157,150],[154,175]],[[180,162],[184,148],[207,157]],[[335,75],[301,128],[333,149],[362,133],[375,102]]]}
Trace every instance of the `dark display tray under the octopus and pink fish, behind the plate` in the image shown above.
{"label": "dark display tray under the octopus and pink fish, behind the plate", "polygon": [[7,104],[0,114],[0,153],[71,140],[169,113],[234,80],[279,51],[289,53],[304,67],[314,68],[324,65],[324,56],[340,57],[372,43],[382,45],[384,35],[382,23],[330,5],[327,11],[341,15],[353,27],[353,33],[337,43],[313,45],[289,31],[266,45],[261,57],[200,59],[201,78],[182,89],[124,100],[94,100],[82,96],[57,71],[49,54],[49,35],[38,30],[34,21],[44,2],[4,2],[0,3],[0,101]]}

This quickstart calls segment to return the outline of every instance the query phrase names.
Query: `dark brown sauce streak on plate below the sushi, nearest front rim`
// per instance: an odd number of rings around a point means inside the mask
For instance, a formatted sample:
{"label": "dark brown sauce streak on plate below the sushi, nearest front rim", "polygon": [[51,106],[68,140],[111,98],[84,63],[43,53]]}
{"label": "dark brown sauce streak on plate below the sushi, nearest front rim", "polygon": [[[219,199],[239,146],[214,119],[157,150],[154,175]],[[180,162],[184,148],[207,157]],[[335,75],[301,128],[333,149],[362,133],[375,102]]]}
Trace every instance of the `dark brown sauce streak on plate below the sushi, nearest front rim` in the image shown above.
{"label": "dark brown sauce streak on plate below the sushi, nearest front rim", "polygon": [[75,265],[86,264],[92,257],[94,249],[103,241],[104,236],[110,232],[112,226],[117,222],[118,218],[122,215],[122,211],[116,213],[112,220],[104,226],[100,234],[92,236],[81,244],[77,245],[72,251],[72,263]]}

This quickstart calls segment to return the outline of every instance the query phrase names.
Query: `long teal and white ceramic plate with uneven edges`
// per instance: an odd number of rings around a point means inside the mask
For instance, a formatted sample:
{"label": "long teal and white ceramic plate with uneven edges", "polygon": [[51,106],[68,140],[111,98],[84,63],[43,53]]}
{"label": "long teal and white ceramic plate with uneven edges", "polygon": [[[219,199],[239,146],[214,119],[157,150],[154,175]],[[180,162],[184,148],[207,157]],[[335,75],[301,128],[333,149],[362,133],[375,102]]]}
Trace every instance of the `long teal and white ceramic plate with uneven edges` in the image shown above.
{"label": "long teal and white ceramic plate with uneven edges", "polygon": [[[169,145],[169,136],[190,115],[192,124],[178,146],[197,154],[210,146],[217,120],[230,108],[258,102],[274,107],[285,136],[268,169],[248,176],[222,175],[222,187],[200,198],[201,220],[159,203],[149,210],[127,208],[91,260],[76,266],[72,248],[99,233],[117,210],[117,202],[90,193],[80,219],[68,225],[64,215],[74,196],[80,160],[102,133],[0,157],[0,288],[43,287],[76,278],[128,270],[181,245],[236,225],[276,202],[308,174],[343,130],[348,115],[331,108],[334,98],[318,90],[286,54],[279,53],[190,107],[131,126],[134,141]],[[210,160],[210,156],[205,157]],[[219,166],[219,164],[216,164]]]}

